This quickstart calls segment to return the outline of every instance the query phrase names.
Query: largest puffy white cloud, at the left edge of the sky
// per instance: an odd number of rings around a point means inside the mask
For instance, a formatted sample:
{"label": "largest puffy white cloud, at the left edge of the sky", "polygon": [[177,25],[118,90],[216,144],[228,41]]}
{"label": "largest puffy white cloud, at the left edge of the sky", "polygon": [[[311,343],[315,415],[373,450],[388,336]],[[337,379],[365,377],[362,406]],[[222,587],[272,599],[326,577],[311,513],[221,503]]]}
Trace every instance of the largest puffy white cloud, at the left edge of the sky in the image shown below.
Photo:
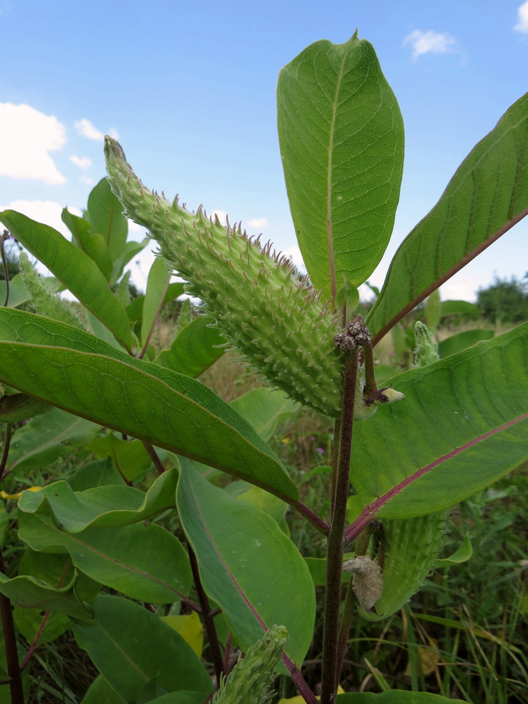
{"label": "largest puffy white cloud, at the left edge of the sky", "polygon": [[65,183],[48,153],[65,142],[64,125],[54,115],[29,105],[0,103],[0,175]]}

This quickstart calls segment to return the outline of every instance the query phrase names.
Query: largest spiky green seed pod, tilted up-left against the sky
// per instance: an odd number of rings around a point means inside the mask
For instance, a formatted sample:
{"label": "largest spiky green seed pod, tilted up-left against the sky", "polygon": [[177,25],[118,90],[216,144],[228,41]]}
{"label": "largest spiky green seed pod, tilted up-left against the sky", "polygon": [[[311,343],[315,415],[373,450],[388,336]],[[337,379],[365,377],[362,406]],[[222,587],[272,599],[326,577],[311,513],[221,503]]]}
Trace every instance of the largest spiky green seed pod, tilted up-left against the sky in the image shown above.
{"label": "largest spiky green seed pod, tilted up-left against the sky", "polygon": [[[206,303],[225,337],[272,384],[306,406],[331,417],[341,413],[342,363],[334,347],[339,317],[331,302],[300,279],[290,260],[271,253],[241,231],[191,213],[144,187],[120,144],[105,142],[112,190],[125,215],[146,227],[187,291]],[[358,375],[359,377],[359,375]],[[369,417],[358,379],[356,417]]]}

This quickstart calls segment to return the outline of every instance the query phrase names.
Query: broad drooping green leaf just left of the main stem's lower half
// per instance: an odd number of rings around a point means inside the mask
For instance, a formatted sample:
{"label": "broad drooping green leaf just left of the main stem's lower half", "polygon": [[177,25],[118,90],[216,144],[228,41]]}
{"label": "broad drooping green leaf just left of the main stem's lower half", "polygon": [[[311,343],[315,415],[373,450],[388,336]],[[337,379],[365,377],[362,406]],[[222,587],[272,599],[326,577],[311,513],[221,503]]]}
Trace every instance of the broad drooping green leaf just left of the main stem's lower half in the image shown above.
{"label": "broad drooping green leaf just left of the main stem's lower half", "polygon": [[217,489],[188,465],[182,465],[177,505],[204,589],[222,608],[242,650],[282,624],[289,633],[286,653],[300,665],[313,635],[315,592],[294,544],[268,514]]}

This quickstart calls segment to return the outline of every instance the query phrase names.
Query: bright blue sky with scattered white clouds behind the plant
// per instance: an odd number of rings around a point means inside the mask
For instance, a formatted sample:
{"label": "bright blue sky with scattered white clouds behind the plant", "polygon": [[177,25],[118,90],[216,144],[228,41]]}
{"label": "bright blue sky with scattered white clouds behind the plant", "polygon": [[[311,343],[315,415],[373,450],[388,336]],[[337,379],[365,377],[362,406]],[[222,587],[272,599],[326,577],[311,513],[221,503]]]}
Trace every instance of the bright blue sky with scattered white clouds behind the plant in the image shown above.
{"label": "bright blue sky with scattered white clouds behind the plant", "polygon": [[[227,212],[292,253],[277,74],[311,42],[344,42],[358,27],[406,125],[400,207],[377,285],[460,161],[528,90],[520,0],[0,0],[0,27],[0,208],[61,227],[61,208],[85,206],[103,177],[110,132],[149,187]],[[139,285],[150,259],[147,250],[132,265]],[[471,300],[494,275],[527,270],[522,222],[441,294]]]}

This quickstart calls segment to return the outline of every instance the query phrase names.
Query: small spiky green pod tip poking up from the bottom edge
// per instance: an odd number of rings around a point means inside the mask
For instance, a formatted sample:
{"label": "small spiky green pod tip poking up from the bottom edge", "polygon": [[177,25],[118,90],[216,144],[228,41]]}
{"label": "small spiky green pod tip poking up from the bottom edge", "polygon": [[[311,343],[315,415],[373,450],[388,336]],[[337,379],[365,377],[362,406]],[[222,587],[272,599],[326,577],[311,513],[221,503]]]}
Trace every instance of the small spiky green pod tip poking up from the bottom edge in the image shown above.
{"label": "small spiky green pod tip poking up from the bottom edge", "polygon": [[266,704],[288,638],[284,626],[272,626],[224,678],[211,704]]}

